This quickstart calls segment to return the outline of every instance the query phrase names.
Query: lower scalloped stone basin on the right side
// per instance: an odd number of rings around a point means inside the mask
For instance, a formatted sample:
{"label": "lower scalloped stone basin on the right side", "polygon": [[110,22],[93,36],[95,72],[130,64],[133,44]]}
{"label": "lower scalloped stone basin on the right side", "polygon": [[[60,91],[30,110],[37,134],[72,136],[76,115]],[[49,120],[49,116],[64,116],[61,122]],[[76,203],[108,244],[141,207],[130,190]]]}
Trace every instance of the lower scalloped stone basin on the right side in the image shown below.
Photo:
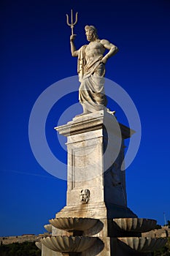
{"label": "lower scalloped stone basin on the right side", "polygon": [[117,238],[138,252],[152,252],[166,244],[166,238],[124,237]]}

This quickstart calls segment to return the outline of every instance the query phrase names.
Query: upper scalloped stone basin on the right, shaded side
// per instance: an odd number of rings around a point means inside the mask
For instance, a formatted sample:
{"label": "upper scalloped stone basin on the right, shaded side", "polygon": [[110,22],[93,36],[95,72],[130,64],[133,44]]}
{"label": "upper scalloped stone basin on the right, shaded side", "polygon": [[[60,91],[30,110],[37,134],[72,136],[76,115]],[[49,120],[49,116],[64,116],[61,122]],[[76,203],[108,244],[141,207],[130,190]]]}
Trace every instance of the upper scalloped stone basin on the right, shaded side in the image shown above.
{"label": "upper scalloped stone basin on the right, shaded side", "polygon": [[122,218],[113,219],[113,221],[123,231],[147,232],[153,230],[156,226],[155,219]]}

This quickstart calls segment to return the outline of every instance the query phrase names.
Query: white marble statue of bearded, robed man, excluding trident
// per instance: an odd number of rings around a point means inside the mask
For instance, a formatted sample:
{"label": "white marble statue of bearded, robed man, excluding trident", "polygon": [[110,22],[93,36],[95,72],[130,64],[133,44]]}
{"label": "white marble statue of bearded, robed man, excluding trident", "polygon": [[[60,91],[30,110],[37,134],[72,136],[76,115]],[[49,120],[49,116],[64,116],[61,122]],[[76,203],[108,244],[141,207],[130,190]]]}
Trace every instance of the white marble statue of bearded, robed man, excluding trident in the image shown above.
{"label": "white marble statue of bearded, robed man, excluding trident", "polygon": [[[117,46],[106,39],[99,39],[94,26],[85,26],[88,45],[76,50],[75,34],[70,37],[72,56],[78,57],[77,72],[80,78],[79,99],[83,114],[103,110],[107,107],[104,94],[104,74],[107,59],[117,53]],[[104,55],[105,50],[109,50]],[[106,108],[107,109],[107,108]]]}

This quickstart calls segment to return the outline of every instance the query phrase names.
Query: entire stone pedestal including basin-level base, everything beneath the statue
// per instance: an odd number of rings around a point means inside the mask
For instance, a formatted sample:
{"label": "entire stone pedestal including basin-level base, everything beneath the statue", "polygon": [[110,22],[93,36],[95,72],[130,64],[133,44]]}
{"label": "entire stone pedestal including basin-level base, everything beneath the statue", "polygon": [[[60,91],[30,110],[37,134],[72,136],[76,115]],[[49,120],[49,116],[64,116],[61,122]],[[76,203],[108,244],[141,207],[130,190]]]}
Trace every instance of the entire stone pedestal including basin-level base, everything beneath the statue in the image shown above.
{"label": "entire stone pedestal including basin-level base, everything beneath the statue", "polygon": [[[150,256],[146,246],[155,241],[139,238],[148,227],[138,225],[151,222],[137,219],[127,207],[124,140],[134,131],[105,110],[76,116],[55,129],[67,137],[67,200],[51,220],[52,237],[42,239],[42,256]],[[123,222],[116,222],[120,218]],[[130,221],[133,225],[122,230]]]}

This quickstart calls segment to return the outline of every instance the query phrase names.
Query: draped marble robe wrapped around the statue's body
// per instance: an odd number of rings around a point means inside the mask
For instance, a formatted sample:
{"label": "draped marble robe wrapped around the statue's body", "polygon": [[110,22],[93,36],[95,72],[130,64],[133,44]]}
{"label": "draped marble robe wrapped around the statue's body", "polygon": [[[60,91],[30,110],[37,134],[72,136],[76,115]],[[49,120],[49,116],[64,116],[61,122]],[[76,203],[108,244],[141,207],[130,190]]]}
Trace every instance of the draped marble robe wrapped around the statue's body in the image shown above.
{"label": "draped marble robe wrapped around the statue's body", "polygon": [[79,100],[83,110],[94,112],[107,106],[107,97],[104,94],[105,65],[101,63],[102,54],[93,57],[93,60],[85,61],[85,48],[79,50],[77,72],[79,74],[80,89]]}

